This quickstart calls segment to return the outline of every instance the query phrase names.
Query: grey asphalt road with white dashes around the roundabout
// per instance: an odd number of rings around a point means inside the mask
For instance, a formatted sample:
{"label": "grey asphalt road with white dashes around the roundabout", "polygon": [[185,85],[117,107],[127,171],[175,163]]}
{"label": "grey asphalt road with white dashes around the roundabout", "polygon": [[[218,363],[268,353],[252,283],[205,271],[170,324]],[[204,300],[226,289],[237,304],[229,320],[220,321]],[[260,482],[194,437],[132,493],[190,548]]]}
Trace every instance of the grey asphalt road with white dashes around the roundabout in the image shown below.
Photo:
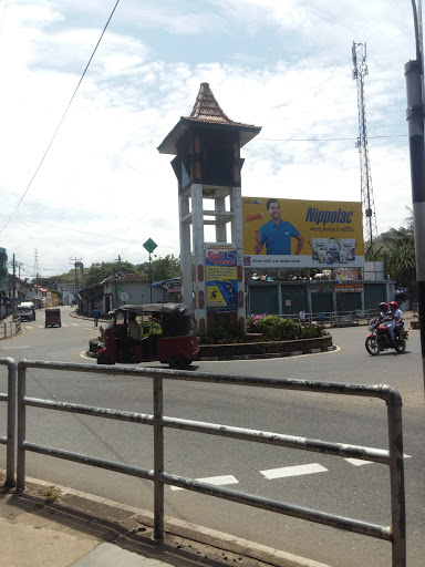
{"label": "grey asphalt road with white dashes around the roundabout", "polygon": [[[44,329],[40,313],[24,332],[0,342],[0,357],[95,363],[82,354],[95,337],[92,321],[63,311],[61,329]],[[194,372],[297,378],[350,383],[387,383],[400,390],[404,408],[408,566],[425,557],[425,404],[418,331],[407,352],[370,357],[366,328],[334,329],[334,352],[286,359],[199,362]],[[154,364],[160,367],[160,364]],[[141,365],[142,367],[142,365]],[[0,369],[0,391],[6,372]],[[54,371],[29,371],[27,394],[87,405],[152,413],[151,380]],[[3,405],[3,404],[2,404]],[[0,412],[2,406],[0,406]],[[211,423],[271,431],[333,442],[387,447],[385,403],[370,399],[273,391],[212,383],[167,382],[164,412]],[[148,426],[92,417],[28,411],[29,440],[80,453],[153,467]],[[4,431],[0,413],[0,431]],[[1,450],[3,447],[0,447]],[[318,508],[362,520],[390,524],[387,467],[319,453],[252,444],[201,434],[166,431],[166,472],[211,478],[230,488]],[[0,451],[0,466],[4,452]],[[292,468],[291,468],[292,467]],[[283,470],[283,472],[281,471]],[[112,472],[28,455],[27,474],[152,509],[152,483]],[[287,476],[282,476],[282,474]],[[391,545],[364,536],[166,487],[166,513],[236,536],[309,557],[333,567],[391,565]]]}

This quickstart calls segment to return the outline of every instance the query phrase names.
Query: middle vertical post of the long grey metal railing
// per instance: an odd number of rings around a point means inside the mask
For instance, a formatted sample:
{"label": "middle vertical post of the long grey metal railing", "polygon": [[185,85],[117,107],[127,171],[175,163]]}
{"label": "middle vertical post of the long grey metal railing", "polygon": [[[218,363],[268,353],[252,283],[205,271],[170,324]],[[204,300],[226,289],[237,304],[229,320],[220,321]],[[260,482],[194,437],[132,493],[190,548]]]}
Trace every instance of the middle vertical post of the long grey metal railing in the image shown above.
{"label": "middle vertical post of the long grey metal railing", "polygon": [[154,539],[164,540],[164,483],[159,475],[164,473],[164,427],[163,420],[163,379],[154,378]]}

